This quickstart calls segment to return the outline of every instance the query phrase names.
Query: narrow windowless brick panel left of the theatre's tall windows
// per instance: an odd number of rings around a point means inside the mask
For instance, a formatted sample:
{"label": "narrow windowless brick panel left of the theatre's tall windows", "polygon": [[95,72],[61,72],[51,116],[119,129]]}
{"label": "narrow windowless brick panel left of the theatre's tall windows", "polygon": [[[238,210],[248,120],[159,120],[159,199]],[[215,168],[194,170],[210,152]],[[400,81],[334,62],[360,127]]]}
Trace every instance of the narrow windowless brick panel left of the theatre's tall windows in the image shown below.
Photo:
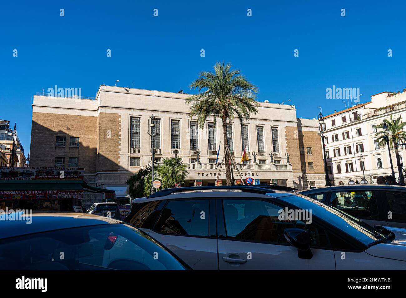
{"label": "narrow windowless brick panel left of the theatre's tall windows", "polygon": [[97,172],[116,172],[120,169],[121,118],[112,113],[100,113],[98,118]]}

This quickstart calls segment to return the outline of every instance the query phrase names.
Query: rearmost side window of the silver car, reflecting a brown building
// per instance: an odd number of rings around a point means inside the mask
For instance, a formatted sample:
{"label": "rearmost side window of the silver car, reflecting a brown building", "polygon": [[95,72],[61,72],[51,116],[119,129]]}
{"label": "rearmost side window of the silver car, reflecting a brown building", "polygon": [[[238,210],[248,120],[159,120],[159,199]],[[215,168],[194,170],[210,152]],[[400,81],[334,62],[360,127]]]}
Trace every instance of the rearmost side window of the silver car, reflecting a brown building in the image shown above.
{"label": "rearmost side window of the silver car, reflecting a brown building", "polygon": [[159,209],[161,202],[162,201],[152,201],[134,204],[130,214],[125,218],[125,221],[134,227],[152,229],[161,212]]}

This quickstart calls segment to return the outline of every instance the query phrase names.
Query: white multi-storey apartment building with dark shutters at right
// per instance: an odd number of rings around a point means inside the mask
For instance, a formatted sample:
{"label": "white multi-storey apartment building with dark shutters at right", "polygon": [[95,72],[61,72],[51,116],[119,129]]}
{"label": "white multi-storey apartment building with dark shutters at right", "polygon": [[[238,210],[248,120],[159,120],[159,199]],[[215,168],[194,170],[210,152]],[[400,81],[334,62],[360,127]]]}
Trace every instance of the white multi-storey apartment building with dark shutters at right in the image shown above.
{"label": "white multi-storey apartment building with dark shutters at right", "polygon": [[[324,117],[324,142],[330,180],[335,185],[348,184],[350,179],[376,183],[378,176],[391,175],[387,146],[380,148],[375,134],[384,119],[401,117],[406,121],[406,92],[380,92],[371,101],[357,104]],[[381,129],[382,131],[382,129]],[[402,144],[402,143],[400,143]],[[400,161],[405,157],[399,146]],[[361,156],[362,154],[362,156]],[[395,151],[391,157],[396,178],[398,170]]]}

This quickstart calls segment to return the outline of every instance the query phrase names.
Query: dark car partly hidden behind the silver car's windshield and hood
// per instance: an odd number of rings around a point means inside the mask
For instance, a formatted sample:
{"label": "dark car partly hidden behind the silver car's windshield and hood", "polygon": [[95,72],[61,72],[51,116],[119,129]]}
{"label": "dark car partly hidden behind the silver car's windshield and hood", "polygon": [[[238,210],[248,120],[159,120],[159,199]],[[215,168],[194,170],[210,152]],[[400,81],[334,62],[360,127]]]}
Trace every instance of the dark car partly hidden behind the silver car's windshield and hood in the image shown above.
{"label": "dark car partly hidden behind the silver car's windshield and hood", "polygon": [[370,225],[406,228],[406,187],[339,185],[299,193],[334,206]]}

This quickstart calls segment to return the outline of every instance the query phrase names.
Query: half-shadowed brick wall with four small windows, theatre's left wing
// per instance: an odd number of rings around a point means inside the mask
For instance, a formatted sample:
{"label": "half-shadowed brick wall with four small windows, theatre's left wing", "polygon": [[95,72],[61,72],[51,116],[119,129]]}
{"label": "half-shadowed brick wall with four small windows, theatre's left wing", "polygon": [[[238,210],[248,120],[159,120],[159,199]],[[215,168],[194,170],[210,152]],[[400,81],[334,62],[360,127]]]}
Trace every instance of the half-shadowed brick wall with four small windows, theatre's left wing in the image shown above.
{"label": "half-shadowed brick wall with four small windows, theatre's left wing", "polygon": [[[96,171],[97,117],[65,114],[32,113],[31,167],[54,167],[55,157],[79,158],[85,173]],[[66,138],[65,147],[56,147],[56,136]],[[79,137],[79,148],[69,147],[70,137]]]}

